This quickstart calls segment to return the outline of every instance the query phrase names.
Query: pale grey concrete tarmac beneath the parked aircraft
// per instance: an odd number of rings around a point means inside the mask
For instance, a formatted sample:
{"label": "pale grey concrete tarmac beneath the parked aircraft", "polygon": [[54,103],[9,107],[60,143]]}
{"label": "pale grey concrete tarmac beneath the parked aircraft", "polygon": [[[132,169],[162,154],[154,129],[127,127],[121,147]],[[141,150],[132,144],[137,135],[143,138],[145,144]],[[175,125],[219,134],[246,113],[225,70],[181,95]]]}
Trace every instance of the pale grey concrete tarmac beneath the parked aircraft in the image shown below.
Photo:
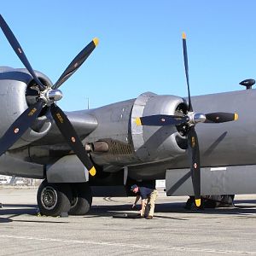
{"label": "pale grey concrete tarmac beneath the parked aircraft", "polygon": [[185,210],[160,190],[153,219],[113,218],[134,197],[94,198],[85,216],[38,217],[37,189],[0,187],[0,255],[256,255],[256,195]]}

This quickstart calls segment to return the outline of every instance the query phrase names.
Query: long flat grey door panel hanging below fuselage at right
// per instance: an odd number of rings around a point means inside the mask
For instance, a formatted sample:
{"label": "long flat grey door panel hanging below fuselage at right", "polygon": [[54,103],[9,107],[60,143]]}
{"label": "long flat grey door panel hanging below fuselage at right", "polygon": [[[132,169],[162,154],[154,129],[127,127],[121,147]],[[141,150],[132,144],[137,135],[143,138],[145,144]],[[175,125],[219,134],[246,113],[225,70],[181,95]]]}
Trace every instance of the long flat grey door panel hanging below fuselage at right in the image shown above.
{"label": "long flat grey door panel hanging below fuselage at right", "polygon": [[[201,195],[255,193],[255,165],[201,168]],[[166,195],[194,195],[189,169],[166,171]]]}

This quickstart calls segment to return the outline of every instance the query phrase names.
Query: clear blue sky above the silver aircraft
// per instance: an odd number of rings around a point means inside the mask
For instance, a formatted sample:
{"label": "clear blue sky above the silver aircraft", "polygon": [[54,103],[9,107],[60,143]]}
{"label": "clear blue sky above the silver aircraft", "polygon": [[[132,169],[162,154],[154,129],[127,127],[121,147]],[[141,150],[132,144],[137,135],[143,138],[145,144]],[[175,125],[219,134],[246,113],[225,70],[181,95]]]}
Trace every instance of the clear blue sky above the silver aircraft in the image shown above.
{"label": "clear blue sky above the silver aircraft", "polygon": [[[1,15],[33,69],[53,83],[99,38],[61,85],[65,111],[98,108],[146,91],[187,96],[182,32],[187,34],[192,96],[243,90],[256,79],[253,0],[4,0]],[[0,32],[0,66],[23,67]]]}

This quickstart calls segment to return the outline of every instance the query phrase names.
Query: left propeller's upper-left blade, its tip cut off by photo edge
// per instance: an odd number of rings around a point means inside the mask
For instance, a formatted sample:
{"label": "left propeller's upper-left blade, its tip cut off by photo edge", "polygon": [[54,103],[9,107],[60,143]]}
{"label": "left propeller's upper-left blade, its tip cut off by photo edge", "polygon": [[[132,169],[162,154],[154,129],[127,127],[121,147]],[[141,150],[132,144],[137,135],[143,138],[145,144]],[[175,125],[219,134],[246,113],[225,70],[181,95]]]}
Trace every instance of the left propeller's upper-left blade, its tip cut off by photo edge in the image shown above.
{"label": "left propeller's upper-left blade, its tip cut off by photo edge", "polygon": [[23,63],[23,65],[26,67],[28,72],[32,75],[32,78],[35,80],[35,82],[38,84],[40,90],[44,90],[44,84],[38,79],[36,74],[34,73],[29,61],[26,59],[26,55],[21,48],[18,40],[15,38],[14,33],[11,31],[5,20],[3,19],[3,16],[0,15],[0,26],[3,30],[3,33],[5,34],[5,37],[9,41],[9,44],[11,47],[15,50],[16,55],[20,58],[20,61]]}

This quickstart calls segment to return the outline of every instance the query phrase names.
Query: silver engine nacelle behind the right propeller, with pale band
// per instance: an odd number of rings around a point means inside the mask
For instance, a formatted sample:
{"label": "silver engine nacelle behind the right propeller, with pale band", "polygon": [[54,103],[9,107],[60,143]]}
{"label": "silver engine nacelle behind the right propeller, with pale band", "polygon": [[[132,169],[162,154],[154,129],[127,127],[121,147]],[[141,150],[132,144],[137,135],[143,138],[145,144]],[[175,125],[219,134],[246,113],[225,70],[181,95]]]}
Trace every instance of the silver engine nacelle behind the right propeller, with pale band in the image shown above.
{"label": "silver engine nacelle behind the right propeller, with pale band", "polygon": [[185,152],[186,141],[175,125],[137,125],[137,117],[154,114],[174,115],[186,112],[187,104],[178,96],[157,96],[145,93],[137,97],[131,113],[131,136],[137,157],[143,161],[172,160]]}

